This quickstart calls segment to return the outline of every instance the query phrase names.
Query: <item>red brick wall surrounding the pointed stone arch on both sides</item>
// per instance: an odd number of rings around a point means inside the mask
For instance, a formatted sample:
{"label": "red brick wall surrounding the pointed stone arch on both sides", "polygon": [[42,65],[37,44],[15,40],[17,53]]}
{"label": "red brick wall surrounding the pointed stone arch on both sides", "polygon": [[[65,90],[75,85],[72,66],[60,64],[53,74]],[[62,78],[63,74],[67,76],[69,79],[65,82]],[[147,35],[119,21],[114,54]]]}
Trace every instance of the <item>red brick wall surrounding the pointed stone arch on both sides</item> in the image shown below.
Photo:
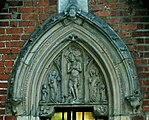
{"label": "red brick wall surrounding the pointed stone arch on both sides", "polygon": [[[139,0],[90,0],[90,12],[103,18],[124,40],[134,58],[143,111],[149,112],[149,12]],[[20,49],[57,12],[57,0],[7,0],[0,12],[0,120],[5,117],[7,83]]]}

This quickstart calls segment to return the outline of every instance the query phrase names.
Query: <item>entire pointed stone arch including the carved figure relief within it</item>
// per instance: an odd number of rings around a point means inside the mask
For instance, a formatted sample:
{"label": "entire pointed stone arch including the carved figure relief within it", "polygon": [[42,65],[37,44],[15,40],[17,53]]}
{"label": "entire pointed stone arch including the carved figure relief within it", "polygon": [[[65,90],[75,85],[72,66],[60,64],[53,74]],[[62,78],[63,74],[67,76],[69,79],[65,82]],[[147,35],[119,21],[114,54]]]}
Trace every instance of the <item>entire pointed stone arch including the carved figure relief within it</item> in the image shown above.
{"label": "entire pointed stone arch including the carved figure relief within it", "polygon": [[141,95],[133,59],[120,37],[100,18],[68,9],[22,49],[7,103],[18,120],[39,120],[64,105],[91,106],[95,116],[122,120],[140,111]]}

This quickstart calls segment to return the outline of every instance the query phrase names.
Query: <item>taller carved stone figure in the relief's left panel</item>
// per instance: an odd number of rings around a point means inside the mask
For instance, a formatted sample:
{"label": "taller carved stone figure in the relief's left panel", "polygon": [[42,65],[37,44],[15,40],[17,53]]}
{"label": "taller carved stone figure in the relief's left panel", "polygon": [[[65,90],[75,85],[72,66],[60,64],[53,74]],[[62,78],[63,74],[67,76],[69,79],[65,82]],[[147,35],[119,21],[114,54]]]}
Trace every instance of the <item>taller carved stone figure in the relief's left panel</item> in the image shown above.
{"label": "taller carved stone figure in the relief's left panel", "polygon": [[60,77],[58,76],[58,72],[56,70],[51,70],[49,74],[49,85],[50,85],[50,100],[51,102],[58,102],[58,84],[60,81]]}

